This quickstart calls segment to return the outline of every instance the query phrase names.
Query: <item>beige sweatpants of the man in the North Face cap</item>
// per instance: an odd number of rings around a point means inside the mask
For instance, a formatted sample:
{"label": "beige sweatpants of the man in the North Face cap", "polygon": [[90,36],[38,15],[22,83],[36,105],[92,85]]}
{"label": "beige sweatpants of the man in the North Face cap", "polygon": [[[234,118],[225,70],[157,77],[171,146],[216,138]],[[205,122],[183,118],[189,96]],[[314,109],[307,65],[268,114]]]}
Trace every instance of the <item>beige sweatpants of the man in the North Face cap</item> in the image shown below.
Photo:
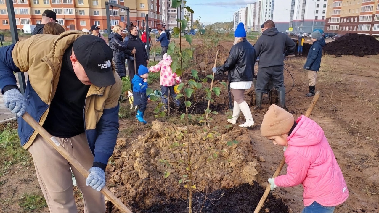
{"label": "beige sweatpants of the man in the North Face cap", "polygon": [[[75,157],[86,169],[92,167],[94,157],[89,148],[85,133],[72,138],[57,138],[57,141]],[[60,155],[41,135],[38,135],[28,148],[42,193],[50,213],[77,213],[75,205],[72,173],[77,186],[83,194],[85,213],[105,213],[105,201],[101,192],[86,186],[86,179],[80,172]]]}

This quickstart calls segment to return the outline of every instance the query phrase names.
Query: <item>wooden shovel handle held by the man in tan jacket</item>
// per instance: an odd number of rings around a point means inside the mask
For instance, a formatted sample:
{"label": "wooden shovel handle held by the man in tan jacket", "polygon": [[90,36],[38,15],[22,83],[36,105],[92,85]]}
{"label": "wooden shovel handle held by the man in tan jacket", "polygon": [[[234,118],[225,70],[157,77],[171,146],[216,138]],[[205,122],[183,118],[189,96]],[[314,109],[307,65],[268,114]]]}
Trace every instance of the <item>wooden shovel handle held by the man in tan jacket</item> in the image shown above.
{"label": "wooden shovel handle held by the man in tan jacket", "polygon": [[[54,147],[55,150],[57,150],[67,161],[70,162],[72,166],[75,167],[84,177],[88,177],[89,171],[84,168],[83,165],[79,161],[77,161],[74,156],[72,156],[66,149],[64,149],[63,146],[60,146],[61,144],[52,136],[50,133],[48,133],[36,120],[34,120],[33,117],[30,116],[29,113],[25,112],[23,114],[22,118],[36,130],[36,132],[41,135],[45,140]],[[111,191],[104,186],[101,189],[101,193],[105,197],[107,197],[119,210],[123,213],[133,213],[130,211],[128,207],[126,207],[116,196],[114,196]]]}

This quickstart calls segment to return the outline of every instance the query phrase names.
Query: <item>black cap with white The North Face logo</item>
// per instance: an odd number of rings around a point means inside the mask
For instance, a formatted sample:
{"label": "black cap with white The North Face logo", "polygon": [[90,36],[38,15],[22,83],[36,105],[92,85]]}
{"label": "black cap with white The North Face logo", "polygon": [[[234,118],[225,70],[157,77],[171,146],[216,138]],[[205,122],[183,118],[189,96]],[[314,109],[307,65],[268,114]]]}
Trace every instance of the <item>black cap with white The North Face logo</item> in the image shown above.
{"label": "black cap with white The North Face logo", "polygon": [[111,66],[113,51],[102,38],[80,36],[74,41],[72,49],[93,85],[105,87],[116,83]]}

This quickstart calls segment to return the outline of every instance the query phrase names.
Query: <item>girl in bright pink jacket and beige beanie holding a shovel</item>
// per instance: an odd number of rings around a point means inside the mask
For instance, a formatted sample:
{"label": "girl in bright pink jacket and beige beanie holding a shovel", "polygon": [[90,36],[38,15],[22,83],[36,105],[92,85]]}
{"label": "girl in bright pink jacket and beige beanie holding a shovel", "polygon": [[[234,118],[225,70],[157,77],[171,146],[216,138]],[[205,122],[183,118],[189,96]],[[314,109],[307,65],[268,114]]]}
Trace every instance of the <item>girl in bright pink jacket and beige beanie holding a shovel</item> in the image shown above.
{"label": "girl in bright pink jacket and beige beanie holding a shovel", "polygon": [[302,213],[333,213],[348,199],[348,187],[333,150],[315,121],[300,116],[295,122],[291,113],[271,105],[263,117],[261,134],[284,146],[287,174],[268,179],[271,190],[302,184]]}

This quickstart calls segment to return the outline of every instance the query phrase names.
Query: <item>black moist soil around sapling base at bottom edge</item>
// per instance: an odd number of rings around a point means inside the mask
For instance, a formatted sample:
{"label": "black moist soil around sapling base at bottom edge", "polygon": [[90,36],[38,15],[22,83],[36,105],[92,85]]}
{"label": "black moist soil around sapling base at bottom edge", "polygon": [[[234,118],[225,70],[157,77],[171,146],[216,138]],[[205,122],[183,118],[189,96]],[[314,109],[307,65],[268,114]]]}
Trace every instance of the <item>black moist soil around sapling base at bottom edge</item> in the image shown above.
{"label": "black moist soil around sapling base at bottom edge", "polygon": [[[262,197],[264,189],[254,181],[253,185],[244,183],[230,189],[215,190],[211,193],[196,193],[193,198],[193,212],[203,213],[241,213],[253,212]],[[204,200],[205,196],[207,199]],[[141,213],[187,213],[188,204],[181,199],[170,200],[162,205],[142,210]],[[270,193],[260,213],[287,213],[288,207],[282,199]]]}

